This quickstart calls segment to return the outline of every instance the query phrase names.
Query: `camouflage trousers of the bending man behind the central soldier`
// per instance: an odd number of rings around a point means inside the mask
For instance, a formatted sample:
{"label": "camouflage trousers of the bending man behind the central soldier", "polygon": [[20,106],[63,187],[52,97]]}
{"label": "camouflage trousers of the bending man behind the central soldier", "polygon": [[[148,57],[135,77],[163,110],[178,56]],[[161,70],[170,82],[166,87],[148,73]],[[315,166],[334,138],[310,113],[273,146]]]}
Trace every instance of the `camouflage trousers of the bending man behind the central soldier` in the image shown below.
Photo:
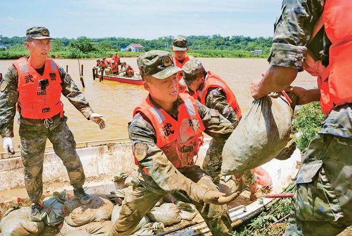
{"label": "camouflage trousers of the bending man behind the central soldier", "polygon": [[[223,144],[217,142],[215,139],[211,139],[202,165],[202,168],[209,173],[209,175],[213,178],[213,182],[217,185],[220,181],[218,176],[221,172],[221,153],[223,147]],[[256,178],[252,170],[247,170],[236,174],[235,179],[237,180],[236,184],[239,191],[243,190],[245,186],[256,183]]]}

